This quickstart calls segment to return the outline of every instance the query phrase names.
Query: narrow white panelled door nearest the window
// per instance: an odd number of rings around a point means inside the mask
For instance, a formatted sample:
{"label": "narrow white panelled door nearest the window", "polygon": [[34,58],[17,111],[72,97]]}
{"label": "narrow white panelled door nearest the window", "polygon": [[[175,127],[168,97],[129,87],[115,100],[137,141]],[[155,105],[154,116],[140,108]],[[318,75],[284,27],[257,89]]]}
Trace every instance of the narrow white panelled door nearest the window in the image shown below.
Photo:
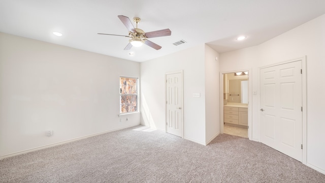
{"label": "narrow white panelled door nearest the window", "polygon": [[183,136],[183,81],[182,73],[166,74],[167,133]]}

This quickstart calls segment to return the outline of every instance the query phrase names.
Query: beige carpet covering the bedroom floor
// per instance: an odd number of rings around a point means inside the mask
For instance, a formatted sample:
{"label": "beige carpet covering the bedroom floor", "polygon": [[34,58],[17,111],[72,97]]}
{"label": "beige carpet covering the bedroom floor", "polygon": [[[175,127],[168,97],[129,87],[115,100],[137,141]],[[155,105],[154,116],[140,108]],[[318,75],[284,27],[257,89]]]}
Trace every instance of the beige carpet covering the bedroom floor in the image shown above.
{"label": "beige carpet covering the bedroom floor", "polygon": [[325,182],[258,142],[227,134],[203,146],[142,126],[0,161],[0,182]]}

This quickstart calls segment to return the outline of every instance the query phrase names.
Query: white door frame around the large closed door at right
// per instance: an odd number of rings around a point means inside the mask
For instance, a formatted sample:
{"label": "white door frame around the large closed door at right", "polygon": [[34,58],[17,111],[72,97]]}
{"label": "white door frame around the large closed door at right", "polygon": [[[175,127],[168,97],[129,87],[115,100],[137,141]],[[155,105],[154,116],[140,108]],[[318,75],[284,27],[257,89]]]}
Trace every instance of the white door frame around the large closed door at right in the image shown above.
{"label": "white door frame around the large closed door at right", "polygon": [[[268,67],[273,67],[273,66],[278,66],[282,64],[287,64],[287,63],[293,63],[301,60],[301,68],[302,68],[302,107],[303,107],[303,112],[302,112],[302,144],[303,144],[303,157],[302,157],[302,163],[307,164],[307,59],[306,55],[296,58],[296,59],[291,59],[285,62],[281,63],[276,63],[264,67],[259,67],[258,68],[258,109],[261,108],[261,69],[268,68]],[[261,117],[261,113],[258,112],[258,120]],[[258,122],[261,123],[261,122]],[[261,133],[262,130],[259,129],[259,141],[261,142]]]}

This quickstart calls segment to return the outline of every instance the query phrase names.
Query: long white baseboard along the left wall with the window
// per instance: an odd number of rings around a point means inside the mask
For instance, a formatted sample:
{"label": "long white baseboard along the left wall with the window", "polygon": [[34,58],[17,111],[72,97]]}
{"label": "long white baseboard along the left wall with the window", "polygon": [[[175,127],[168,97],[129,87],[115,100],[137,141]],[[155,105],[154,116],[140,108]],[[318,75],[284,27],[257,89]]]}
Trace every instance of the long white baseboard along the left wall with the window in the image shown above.
{"label": "long white baseboard along the left wall with the window", "polygon": [[9,158],[9,157],[13,157],[13,156],[17,156],[17,155],[22,155],[22,154],[30,153],[30,152],[36,151],[36,150],[41,150],[41,149],[53,147],[53,146],[56,146],[56,145],[61,145],[61,144],[65,144],[65,143],[69,143],[69,142],[73,142],[73,141],[77,141],[77,140],[81,140],[81,139],[93,137],[93,136],[96,136],[96,135],[101,135],[101,134],[105,134],[105,133],[109,133],[109,132],[114,132],[114,131],[117,131],[117,130],[126,129],[126,128],[129,128],[129,127],[138,126],[138,125],[140,125],[140,124],[131,125],[131,126],[122,127],[122,128],[117,128],[117,129],[108,130],[108,131],[105,131],[105,132],[100,132],[100,133],[96,133],[96,134],[86,135],[86,136],[83,136],[83,137],[78,137],[78,138],[74,138],[74,139],[70,139],[70,140],[66,140],[66,141],[52,143],[52,144],[49,144],[49,145],[44,145],[44,146],[40,146],[40,147],[36,147],[36,148],[31,148],[31,149],[27,149],[27,150],[18,151],[17,153],[12,153],[12,154],[9,154],[9,155],[0,156],[0,160],[3,160],[5,158]]}

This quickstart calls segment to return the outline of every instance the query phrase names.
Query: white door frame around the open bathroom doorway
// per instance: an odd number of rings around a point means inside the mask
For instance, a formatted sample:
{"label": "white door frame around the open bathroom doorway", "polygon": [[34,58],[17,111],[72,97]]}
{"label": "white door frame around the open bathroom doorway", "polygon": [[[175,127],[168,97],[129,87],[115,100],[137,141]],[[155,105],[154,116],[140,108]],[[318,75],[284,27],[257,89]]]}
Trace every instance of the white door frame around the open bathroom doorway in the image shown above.
{"label": "white door frame around the open bathroom doorway", "polygon": [[252,140],[252,69],[220,72],[220,134],[223,134],[223,74],[248,71],[248,139]]}

